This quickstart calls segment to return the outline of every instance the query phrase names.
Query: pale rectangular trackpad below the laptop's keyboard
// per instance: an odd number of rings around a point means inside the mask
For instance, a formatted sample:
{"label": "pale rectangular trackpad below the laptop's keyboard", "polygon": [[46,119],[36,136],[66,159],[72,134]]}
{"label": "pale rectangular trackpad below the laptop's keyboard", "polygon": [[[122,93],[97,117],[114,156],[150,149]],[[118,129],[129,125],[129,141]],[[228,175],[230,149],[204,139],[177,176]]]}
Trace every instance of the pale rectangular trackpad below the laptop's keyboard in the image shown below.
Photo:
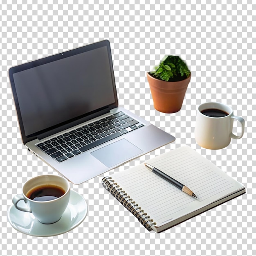
{"label": "pale rectangular trackpad below the laptop's keyboard", "polygon": [[131,144],[126,139],[121,139],[108,146],[93,151],[91,154],[102,164],[112,167],[142,153],[142,150]]}

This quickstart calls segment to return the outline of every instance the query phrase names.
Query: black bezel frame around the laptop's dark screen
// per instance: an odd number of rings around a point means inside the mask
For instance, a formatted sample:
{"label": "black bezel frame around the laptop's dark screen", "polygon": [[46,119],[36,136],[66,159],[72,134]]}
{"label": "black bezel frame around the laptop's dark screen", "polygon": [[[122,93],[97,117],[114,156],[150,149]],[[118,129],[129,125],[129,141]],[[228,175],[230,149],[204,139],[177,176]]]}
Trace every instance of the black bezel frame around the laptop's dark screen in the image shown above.
{"label": "black bezel frame around the laptop's dark screen", "polygon": [[[17,72],[27,70],[27,69],[30,69],[32,67],[36,67],[36,66],[39,66],[39,65],[44,65],[44,64],[50,63],[52,61],[57,61],[57,60],[60,60],[60,59],[63,59],[63,58],[74,56],[76,54],[80,54],[80,53],[83,53],[83,52],[88,52],[90,50],[97,49],[97,48],[104,47],[104,46],[106,46],[107,51],[108,51],[108,60],[109,60],[109,64],[110,64],[110,71],[111,71],[111,78],[112,78],[112,88],[113,88],[115,102],[110,104],[109,106],[105,106],[103,108],[94,110],[94,111],[89,112],[89,113],[85,113],[84,115],[76,117],[72,120],[67,120],[67,121],[65,121],[61,124],[56,125],[56,126],[49,127],[45,130],[40,130],[40,131],[36,132],[36,134],[25,135],[25,129],[24,129],[24,126],[23,126],[22,115],[21,115],[21,112],[20,112],[18,96],[17,96],[17,92],[16,92],[14,79],[13,79],[13,74],[15,74]],[[93,119],[93,118],[95,118],[97,116],[100,116],[100,115],[103,115],[105,113],[108,113],[111,109],[118,107],[117,90],[116,90],[116,85],[115,85],[115,76],[114,76],[112,55],[111,55],[111,48],[110,48],[109,40],[103,40],[103,41],[99,41],[99,42],[92,43],[92,44],[89,44],[89,45],[84,45],[82,47],[71,49],[71,50],[68,50],[68,51],[65,51],[65,52],[60,52],[58,54],[54,54],[54,55],[51,55],[51,56],[47,56],[47,57],[44,57],[44,58],[37,59],[35,61],[30,61],[30,62],[27,62],[27,63],[23,63],[23,64],[20,64],[20,65],[11,67],[9,69],[9,79],[10,79],[10,83],[11,83],[13,100],[14,100],[14,103],[15,103],[15,106],[16,106],[16,113],[17,113],[17,117],[18,117],[18,123],[19,123],[19,126],[20,126],[20,134],[21,134],[21,137],[22,137],[23,144],[26,144],[27,142],[32,141],[34,139],[43,139],[44,137],[54,135],[55,133],[61,132],[62,130],[72,128],[73,126],[76,126],[76,125],[81,124],[83,122],[89,121],[90,119]]]}

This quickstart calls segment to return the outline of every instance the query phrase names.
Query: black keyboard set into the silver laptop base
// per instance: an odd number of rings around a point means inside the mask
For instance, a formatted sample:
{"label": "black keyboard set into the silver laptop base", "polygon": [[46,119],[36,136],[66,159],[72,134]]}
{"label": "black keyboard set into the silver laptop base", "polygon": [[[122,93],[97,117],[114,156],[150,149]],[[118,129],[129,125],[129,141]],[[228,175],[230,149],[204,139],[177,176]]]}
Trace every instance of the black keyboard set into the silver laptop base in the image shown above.
{"label": "black keyboard set into the silver laptop base", "polygon": [[36,146],[56,161],[63,162],[143,126],[144,124],[132,119],[124,112],[118,112],[40,142]]}

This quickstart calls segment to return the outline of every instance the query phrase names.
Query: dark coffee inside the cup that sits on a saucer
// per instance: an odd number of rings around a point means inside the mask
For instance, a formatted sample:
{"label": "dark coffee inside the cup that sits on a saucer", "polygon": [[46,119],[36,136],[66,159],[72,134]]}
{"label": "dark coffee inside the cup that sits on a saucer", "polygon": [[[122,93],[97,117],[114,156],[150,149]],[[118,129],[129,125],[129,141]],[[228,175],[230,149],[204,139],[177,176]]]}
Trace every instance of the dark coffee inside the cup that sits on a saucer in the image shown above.
{"label": "dark coffee inside the cup that sits on a saucer", "polygon": [[43,186],[39,186],[34,189],[31,189],[26,196],[31,200],[43,202],[43,201],[54,200],[56,198],[61,197],[64,194],[65,194],[64,189],[62,189],[59,186],[43,185]]}

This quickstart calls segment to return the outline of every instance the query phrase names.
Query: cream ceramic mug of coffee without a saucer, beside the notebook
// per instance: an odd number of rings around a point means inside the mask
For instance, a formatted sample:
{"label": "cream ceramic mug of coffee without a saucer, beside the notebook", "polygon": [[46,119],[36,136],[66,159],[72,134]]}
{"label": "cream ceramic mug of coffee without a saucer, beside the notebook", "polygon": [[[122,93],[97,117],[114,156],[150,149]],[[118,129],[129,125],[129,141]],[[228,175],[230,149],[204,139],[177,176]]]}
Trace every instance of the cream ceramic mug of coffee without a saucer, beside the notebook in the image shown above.
{"label": "cream ceramic mug of coffee without a saucer, beside the notebook", "polygon": [[[204,115],[202,112],[216,109],[226,112],[223,117],[211,117]],[[233,123],[234,119],[240,122],[242,132],[240,135],[234,135]],[[231,107],[219,102],[207,102],[198,107],[196,124],[195,124],[195,140],[198,145],[208,149],[220,149],[229,145],[231,138],[240,139],[245,130],[245,120],[242,117],[234,116]]]}

